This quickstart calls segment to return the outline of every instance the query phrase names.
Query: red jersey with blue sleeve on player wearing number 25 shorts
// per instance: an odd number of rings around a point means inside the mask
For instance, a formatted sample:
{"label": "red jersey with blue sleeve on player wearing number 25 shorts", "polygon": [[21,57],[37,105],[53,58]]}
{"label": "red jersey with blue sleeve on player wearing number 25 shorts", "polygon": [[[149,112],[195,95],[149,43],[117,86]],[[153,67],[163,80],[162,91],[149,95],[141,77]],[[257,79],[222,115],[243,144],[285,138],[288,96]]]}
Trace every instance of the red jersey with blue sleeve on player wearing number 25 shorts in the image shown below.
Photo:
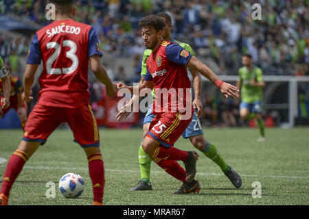
{"label": "red jersey with blue sleeve on player wearing number 25 shorts", "polygon": [[153,112],[192,111],[191,82],[185,65],[191,58],[179,44],[163,40],[146,61],[146,81],[153,80],[155,102]]}

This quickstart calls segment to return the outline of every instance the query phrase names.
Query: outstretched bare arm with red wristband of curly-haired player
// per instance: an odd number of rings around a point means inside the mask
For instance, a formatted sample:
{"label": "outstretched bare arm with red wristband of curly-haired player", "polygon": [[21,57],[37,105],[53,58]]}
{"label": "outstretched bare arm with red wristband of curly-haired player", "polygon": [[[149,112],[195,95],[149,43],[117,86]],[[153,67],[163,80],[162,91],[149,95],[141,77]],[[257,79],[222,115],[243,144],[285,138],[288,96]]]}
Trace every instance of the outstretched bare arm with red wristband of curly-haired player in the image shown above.
{"label": "outstretched bare arm with red wristband of curly-haired player", "polygon": [[221,93],[225,95],[226,98],[228,96],[232,98],[239,98],[239,91],[236,86],[232,86],[229,83],[221,81],[210,68],[200,62],[196,57],[192,56],[190,58],[189,62],[187,62],[187,68],[193,68],[204,75],[207,79],[209,79],[209,81],[214,83],[220,89]]}

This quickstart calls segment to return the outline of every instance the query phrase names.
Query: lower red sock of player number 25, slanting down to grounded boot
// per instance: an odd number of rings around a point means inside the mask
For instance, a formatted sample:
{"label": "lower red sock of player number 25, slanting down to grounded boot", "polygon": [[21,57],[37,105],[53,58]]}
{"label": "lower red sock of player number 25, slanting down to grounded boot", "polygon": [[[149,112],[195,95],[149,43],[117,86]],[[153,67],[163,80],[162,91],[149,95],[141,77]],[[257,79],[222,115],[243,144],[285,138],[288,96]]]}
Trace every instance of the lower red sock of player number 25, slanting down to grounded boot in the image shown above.
{"label": "lower red sock of player number 25, slanting down to grounded boot", "polygon": [[157,164],[172,177],[185,182],[185,170],[175,160],[161,159]]}

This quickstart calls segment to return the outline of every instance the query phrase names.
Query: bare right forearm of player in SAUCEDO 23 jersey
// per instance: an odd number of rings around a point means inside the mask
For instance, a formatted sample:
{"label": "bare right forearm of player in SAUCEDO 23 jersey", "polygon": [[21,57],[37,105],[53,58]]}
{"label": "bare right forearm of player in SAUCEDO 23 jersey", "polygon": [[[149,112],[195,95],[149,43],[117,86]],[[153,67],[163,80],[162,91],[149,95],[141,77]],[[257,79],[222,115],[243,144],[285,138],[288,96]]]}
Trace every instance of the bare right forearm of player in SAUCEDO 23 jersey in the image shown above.
{"label": "bare right forearm of player in SAUCEDO 23 jersey", "polygon": [[90,66],[91,70],[93,70],[93,73],[95,74],[95,77],[106,86],[107,96],[115,96],[115,84],[108,77],[105,68],[102,66],[100,62],[100,55],[92,55],[90,57]]}

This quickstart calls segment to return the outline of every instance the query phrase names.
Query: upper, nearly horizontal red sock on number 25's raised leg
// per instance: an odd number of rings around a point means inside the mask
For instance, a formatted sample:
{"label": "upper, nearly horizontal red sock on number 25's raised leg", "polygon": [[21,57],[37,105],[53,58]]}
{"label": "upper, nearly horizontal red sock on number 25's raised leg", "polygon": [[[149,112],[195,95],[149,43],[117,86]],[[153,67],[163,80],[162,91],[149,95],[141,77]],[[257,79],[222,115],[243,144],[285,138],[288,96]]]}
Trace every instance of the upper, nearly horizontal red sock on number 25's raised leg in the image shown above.
{"label": "upper, nearly horizontal red sock on number 25's raised leg", "polygon": [[187,151],[181,149],[176,149],[174,146],[165,148],[165,146],[160,145],[155,151],[152,157],[159,157],[162,159],[172,159],[172,160],[182,160],[183,162],[187,159]]}

